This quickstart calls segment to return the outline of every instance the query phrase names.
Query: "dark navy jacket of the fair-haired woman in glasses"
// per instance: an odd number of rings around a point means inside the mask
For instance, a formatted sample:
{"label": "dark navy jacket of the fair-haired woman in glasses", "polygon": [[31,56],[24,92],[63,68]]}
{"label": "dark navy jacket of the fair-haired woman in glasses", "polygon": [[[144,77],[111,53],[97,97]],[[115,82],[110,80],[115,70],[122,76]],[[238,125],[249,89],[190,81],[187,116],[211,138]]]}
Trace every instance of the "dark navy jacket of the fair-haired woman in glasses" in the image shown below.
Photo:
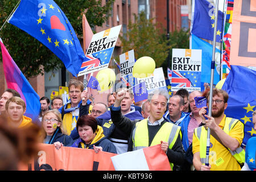
{"label": "dark navy jacket of the fair-haired woman in glasses", "polygon": [[51,139],[49,140],[49,143],[47,144],[53,144],[54,142],[60,142],[60,143],[63,143],[65,147],[69,147],[69,146],[72,146],[74,141],[69,135],[63,134],[60,128],[57,127]]}

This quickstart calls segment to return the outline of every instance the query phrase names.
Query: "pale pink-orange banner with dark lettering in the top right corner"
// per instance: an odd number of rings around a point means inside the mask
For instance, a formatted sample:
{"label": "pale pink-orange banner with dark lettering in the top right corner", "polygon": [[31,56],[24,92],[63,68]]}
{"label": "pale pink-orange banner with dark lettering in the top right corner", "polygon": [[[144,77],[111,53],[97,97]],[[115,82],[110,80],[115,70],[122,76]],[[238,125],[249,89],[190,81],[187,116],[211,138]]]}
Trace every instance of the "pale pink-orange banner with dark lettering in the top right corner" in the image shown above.
{"label": "pale pink-orange banner with dark lettering in the top right corner", "polygon": [[234,1],[230,64],[256,66],[256,1]]}

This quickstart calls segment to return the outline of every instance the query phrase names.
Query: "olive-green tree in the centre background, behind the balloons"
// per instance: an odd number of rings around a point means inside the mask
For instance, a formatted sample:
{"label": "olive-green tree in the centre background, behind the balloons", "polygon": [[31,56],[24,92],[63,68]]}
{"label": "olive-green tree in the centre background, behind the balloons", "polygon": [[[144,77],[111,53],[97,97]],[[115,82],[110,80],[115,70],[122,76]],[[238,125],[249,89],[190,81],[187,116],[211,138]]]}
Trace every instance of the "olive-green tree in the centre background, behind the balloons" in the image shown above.
{"label": "olive-green tree in the centre background, behind the balloons", "polygon": [[[147,19],[142,12],[138,16],[134,14],[135,23],[129,22],[127,33],[119,38],[122,41],[122,52],[134,49],[135,59],[143,56],[150,56],[155,60],[156,68],[161,67],[168,56],[168,50],[173,46],[168,46],[165,35],[156,29],[153,19]],[[116,60],[119,57],[116,57]]]}

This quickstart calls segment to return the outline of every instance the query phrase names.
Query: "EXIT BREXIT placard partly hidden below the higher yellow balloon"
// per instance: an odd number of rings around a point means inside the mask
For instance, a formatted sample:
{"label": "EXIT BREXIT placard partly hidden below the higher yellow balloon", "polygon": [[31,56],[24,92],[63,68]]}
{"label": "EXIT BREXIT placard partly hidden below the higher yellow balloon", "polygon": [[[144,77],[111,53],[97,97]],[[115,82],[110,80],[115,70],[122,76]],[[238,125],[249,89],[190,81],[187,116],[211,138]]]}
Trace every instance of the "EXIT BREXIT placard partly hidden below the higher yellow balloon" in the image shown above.
{"label": "EXIT BREXIT placard partly hidden below the higher yellow balloon", "polygon": [[152,76],[146,78],[137,78],[138,83],[145,81],[147,92],[150,93],[154,89],[166,88],[166,80],[164,78],[163,68],[155,68]]}

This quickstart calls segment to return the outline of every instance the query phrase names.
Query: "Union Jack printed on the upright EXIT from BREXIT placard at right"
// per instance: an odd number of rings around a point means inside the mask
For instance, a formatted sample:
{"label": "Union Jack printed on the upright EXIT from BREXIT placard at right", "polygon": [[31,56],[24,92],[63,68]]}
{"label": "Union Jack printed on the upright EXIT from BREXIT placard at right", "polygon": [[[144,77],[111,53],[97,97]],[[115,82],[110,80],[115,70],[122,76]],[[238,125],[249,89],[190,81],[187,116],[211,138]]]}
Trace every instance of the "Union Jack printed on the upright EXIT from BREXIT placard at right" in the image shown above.
{"label": "Union Jack printed on the upright EXIT from BREXIT placard at right", "polygon": [[191,87],[191,82],[179,71],[172,71],[172,87]]}

